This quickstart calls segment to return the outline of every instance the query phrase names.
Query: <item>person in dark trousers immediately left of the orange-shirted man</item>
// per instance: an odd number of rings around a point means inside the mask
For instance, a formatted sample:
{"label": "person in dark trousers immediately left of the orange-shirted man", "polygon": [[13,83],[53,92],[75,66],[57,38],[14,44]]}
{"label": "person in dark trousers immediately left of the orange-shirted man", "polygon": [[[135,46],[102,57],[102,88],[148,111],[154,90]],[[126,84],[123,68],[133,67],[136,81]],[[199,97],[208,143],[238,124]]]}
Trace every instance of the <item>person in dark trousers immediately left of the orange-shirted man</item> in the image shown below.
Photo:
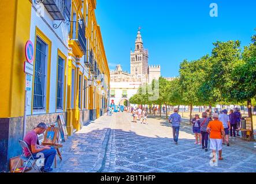
{"label": "person in dark trousers immediately left of the orange-shirted man", "polygon": [[202,136],[202,149],[208,151],[208,140],[209,133],[207,132],[207,126],[209,122],[212,121],[206,112],[202,113],[202,118],[200,119],[200,132]]}

